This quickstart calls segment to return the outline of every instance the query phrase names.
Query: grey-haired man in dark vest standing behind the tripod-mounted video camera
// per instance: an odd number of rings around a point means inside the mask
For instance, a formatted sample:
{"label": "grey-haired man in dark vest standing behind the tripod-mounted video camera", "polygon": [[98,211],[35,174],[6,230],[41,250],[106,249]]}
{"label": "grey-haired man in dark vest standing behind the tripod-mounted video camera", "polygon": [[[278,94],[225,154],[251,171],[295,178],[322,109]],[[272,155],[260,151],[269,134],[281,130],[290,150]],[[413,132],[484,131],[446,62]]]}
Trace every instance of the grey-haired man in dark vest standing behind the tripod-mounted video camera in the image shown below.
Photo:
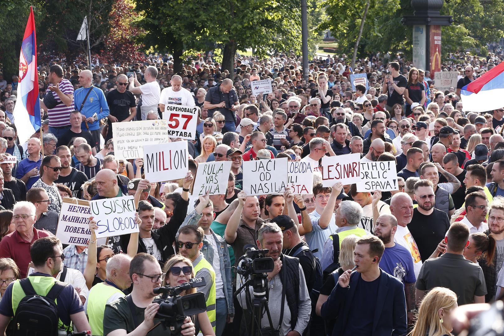
{"label": "grey-haired man in dark vest standing behind the tripod-mounted video camera", "polygon": [[[265,223],[259,229],[257,245],[260,249],[269,249],[266,257],[273,258],[275,264],[273,272],[268,273],[267,303],[273,329],[278,330],[280,326],[280,335],[300,336],[310,319],[311,301],[299,259],[282,254],[282,243],[282,230],[276,223]],[[243,283],[243,276],[240,275],[237,287],[242,286]],[[249,290],[252,296],[252,287],[249,287]],[[247,307],[244,292],[239,293],[238,300],[243,309],[250,310],[250,307]],[[263,318],[261,328],[269,326],[268,319]]]}

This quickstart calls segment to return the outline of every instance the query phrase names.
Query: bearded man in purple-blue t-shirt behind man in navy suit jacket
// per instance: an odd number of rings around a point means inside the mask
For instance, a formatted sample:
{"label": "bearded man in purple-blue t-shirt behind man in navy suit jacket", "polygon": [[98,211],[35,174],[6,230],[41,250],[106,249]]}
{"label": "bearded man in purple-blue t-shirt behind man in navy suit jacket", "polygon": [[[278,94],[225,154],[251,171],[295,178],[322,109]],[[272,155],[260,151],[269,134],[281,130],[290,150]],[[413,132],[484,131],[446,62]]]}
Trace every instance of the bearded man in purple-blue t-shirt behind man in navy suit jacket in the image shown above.
{"label": "bearded man in purple-blue t-shirt behind man in navy suit jacket", "polygon": [[415,308],[415,272],[411,253],[403,246],[394,242],[397,231],[397,219],[392,215],[380,215],[376,219],[374,235],[380,238],[384,245],[380,268],[396,277],[404,285],[406,308],[408,309],[408,325],[412,325],[416,312]]}

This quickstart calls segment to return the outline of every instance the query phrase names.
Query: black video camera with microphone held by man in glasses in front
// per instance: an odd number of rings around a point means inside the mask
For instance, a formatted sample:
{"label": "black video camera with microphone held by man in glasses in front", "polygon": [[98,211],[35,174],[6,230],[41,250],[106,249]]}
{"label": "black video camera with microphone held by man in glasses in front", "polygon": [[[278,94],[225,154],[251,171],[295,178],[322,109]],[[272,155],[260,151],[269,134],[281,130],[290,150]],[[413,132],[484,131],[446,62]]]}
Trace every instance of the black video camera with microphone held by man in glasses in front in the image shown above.
{"label": "black video camera with microphone held by man in glasses in front", "polygon": [[155,318],[162,318],[163,327],[170,328],[170,334],[179,335],[182,330],[182,324],[187,316],[196,315],[207,311],[205,294],[194,293],[180,296],[185,290],[205,286],[204,278],[193,278],[190,282],[180,286],[163,286],[154,289],[154,294],[162,294],[161,298],[154,299],[152,302],[159,303],[159,310]]}

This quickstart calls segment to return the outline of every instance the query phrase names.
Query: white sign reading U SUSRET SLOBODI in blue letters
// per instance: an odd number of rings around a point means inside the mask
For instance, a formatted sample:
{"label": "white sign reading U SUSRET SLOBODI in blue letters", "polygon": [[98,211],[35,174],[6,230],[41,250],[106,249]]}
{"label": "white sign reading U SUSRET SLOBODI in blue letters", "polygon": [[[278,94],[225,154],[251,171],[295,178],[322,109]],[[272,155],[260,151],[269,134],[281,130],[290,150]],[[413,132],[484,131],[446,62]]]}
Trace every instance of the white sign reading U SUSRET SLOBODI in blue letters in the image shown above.
{"label": "white sign reading U SUSRET SLOBODI in blue letters", "polygon": [[89,201],[91,216],[98,226],[96,238],[139,232],[133,199],[133,196],[122,196]]}

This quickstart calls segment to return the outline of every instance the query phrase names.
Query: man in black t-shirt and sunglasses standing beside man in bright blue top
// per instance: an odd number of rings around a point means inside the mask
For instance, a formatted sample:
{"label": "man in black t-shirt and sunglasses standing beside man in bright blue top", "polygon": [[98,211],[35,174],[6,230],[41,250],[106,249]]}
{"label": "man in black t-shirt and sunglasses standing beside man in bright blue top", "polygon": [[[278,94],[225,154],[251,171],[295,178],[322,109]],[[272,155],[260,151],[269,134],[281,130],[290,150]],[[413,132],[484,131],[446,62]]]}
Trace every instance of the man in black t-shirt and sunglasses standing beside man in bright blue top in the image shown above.
{"label": "man in black t-shirt and sunglasses standing beside man in bright blue top", "polygon": [[[131,91],[126,90],[128,86],[128,77],[124,74],[120,74],[117,76],[116,84],[117,89],[107,93],[107,104],[110,114],[107,117],[108,132],[105,137],[105,143],[113,137],[112,122],[130,121],[137,115],[135,96]],[[88,143],[90,144],[90,142]]]}

